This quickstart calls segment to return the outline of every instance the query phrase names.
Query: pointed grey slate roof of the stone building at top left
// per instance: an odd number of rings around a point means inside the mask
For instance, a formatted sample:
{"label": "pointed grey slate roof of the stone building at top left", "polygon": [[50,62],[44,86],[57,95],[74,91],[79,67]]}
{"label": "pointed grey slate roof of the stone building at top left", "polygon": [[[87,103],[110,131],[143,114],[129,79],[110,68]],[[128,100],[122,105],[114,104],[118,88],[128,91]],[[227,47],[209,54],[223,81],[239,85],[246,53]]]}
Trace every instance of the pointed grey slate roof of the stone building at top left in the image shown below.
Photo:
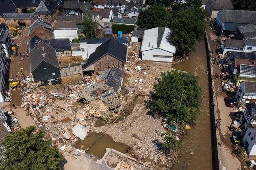
{"label": "pointed grey slate roof of the stone building at top left", "polygon": [[53,0],[46,0],[46,2],[42,0],[34,14],[51,14],[57,7],[58,4]]}

